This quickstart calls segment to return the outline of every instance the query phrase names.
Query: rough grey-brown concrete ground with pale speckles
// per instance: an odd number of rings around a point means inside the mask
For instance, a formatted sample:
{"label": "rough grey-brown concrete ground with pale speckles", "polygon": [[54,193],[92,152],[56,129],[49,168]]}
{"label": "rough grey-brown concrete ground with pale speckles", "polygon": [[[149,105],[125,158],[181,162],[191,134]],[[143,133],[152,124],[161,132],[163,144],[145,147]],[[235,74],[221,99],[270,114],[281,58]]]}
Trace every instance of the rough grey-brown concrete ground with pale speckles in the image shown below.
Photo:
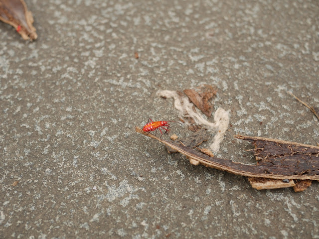
{"label": "rough grey-brown concrete ground with pale speckles", "polygon": [[26,3],[35,42],[0,23],[0,238],[319,238],[318,182],[257,191],[135,132],[178,119],[158,90],[207,83],[218,156],[255,163],[237,133],[316,145],[286,92],[319,106],[318,0]]}

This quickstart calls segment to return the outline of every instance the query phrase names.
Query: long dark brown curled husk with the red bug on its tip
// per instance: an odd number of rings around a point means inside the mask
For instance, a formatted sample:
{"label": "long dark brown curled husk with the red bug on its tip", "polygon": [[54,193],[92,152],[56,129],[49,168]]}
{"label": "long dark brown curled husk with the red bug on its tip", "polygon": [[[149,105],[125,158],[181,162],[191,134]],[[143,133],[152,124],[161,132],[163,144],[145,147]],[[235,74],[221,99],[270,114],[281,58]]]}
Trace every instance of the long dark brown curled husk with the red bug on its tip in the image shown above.
{"label": "long dark brown curled husk with the red bug on its tip", "polygon": [[[136,127],[136,131],[155,138],[174,150],[184,154],[190,163],[227,171],[236,175],[251,178],[279,179],[287,187],[294,186],[288,180],[319,180],[319,147],[296,142],[236,135],[236,138],[250,141],[255,148],[256,165],[246,165],[229,159],[209,157],[178,142],[170,142],[144,132]],[[290,181],[289,181],[290,182]],[[278,183],[278,182],[277,182]],[[274,188],[274,187],[272,187]],[[265,188],[260,188],[265,189]]]}

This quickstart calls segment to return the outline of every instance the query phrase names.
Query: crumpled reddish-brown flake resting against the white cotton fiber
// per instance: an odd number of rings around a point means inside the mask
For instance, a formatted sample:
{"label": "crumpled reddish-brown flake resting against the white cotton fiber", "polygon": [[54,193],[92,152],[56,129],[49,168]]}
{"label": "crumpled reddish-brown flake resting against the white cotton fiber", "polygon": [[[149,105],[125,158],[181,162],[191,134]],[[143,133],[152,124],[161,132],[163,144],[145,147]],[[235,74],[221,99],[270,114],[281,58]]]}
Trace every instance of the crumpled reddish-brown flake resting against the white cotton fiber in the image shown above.
{"label": "crumpled reddish-brown flake resting against the white cotton fiber", "polygon": [[211,116],[212,105],[209,103],[209,100],[213,98],[217,91],[210,85],[202,85],[197,87],[195,90],[186,89],[184,90],[185,95],[189,100],[204,113],[207,117]]}

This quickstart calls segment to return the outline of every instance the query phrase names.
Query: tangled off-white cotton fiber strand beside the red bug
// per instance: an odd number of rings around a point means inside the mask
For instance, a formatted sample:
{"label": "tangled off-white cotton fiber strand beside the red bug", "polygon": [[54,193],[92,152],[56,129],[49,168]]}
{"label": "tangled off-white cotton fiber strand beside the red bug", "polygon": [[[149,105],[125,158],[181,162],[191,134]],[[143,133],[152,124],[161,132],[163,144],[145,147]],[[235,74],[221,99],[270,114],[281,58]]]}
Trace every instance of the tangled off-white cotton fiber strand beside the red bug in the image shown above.
{"label": "tangled off-white cotton fiber strand beside the red bug", "polygon": [[213,143],[210,145],[210,149],[213,152],[217,152],[219,150],[219,145],[224,139],[224,134],[229,124],[229,114],[227,111],[223,108],[218,108],[214,114],[215,122],[209,122],[200,113],[198,113],[197,109],[194,108],[194,105],[189,102],[186,96],[179,95],[176,91],[168,90],[158,91],[157,95],[165,98],[173,98],[174,107],[178,110],[179,117],[190,117],[195,121],[195,123],[217,131],[214,136]]}

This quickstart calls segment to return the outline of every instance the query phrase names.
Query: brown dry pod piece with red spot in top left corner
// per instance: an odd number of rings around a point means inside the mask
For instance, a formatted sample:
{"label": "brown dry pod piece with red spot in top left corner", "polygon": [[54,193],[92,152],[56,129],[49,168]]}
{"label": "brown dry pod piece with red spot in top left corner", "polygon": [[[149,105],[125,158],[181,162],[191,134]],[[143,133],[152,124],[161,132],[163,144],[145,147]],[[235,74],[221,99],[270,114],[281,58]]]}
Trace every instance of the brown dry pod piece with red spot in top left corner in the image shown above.
{"label": "brown dry pod piece with red spot in top left corner", "polygon": [[0,20],[13,26],[24,40],[38,37],[24,0],[0,0]]}

